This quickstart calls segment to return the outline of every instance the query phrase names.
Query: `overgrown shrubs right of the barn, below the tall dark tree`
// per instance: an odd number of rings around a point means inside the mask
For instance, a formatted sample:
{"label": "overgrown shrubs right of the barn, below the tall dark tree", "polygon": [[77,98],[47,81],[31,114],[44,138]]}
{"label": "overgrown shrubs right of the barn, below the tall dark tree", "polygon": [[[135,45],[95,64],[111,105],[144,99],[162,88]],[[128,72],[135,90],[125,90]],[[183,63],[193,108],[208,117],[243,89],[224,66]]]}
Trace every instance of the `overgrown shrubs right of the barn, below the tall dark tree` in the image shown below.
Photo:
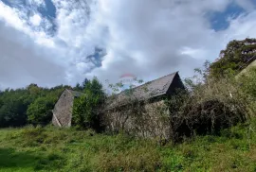
{"label": "overgrown shrubs right of the barn, below the tall dark tree", "polygon": [[194,133],[218,134],[255,117],[255,69],[243,77],[214,78],[209,66],[207,61],[204,69],[196,69],[197,75],[186,79],[190,94],[181,92],[167,101],[174,141]]}

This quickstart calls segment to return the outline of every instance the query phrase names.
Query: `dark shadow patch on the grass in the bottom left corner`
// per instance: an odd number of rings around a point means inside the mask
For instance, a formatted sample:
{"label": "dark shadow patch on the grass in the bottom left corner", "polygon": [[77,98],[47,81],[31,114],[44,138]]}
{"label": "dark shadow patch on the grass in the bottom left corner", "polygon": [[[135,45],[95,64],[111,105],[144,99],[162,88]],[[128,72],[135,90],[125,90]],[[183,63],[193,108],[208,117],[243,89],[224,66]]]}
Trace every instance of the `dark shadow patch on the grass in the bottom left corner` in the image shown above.
{"label": "dark shadow patch on the grass in the bottom left corner", "polygon": [[14,148],[0,148],[0,169],[56,170],[64,164],[61,156],[54,153],[15,151]]}

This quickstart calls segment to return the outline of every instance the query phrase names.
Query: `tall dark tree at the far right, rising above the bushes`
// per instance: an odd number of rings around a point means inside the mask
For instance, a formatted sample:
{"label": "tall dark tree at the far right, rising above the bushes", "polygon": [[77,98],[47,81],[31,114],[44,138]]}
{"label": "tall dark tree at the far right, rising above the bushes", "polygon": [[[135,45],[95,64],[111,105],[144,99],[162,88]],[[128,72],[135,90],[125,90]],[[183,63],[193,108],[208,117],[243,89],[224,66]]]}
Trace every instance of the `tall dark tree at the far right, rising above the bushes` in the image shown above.
{"label": "tall dark tree at the far right, rising above the bushes", "polygon": [[256,60],[256,39],[231,41],[220,52],[219,59],[210,64],[210,77],[223,77],[227,73],[237,74]]}

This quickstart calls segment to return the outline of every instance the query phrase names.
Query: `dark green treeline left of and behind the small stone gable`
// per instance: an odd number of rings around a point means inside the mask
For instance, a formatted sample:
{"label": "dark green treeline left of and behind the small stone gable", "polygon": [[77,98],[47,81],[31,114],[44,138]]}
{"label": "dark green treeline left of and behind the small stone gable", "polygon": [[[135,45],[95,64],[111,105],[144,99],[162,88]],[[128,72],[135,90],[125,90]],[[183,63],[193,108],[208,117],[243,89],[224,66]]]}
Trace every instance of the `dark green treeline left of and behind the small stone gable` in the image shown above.
{"label": "dark green treeline left of and behind the small stone gable", "polygon": [[75,87],[59,85],[43,88],[30,84],[26,88],[0,91],[0,128],[22,127],[27,124],[45,126],[50,123],[55,103],[64,89],[82,92],[90,80]]}

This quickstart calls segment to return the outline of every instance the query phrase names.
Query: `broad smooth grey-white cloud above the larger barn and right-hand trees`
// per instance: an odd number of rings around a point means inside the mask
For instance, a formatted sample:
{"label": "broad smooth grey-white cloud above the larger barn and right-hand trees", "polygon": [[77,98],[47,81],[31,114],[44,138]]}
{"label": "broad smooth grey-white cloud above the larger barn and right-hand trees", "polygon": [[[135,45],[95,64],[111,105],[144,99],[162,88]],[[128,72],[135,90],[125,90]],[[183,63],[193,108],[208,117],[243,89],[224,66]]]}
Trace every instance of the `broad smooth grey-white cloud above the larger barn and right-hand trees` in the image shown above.
{"label": "broad smooth grey-white cloud above the larger barn and right-hand trees", "polygon": [[207,12],[224,11],[230,3],[247,9],[250,1],[243,2],[101,0],[99,18],[110,35],[108,55],[91,75],[117,79],[134,73],[148,80],[180,71],[188,77],[204,60],[214,60],[231,39],[254,35],[255,19],[248,17],[253,12],[231,20],[225,31],[210,28]]}

